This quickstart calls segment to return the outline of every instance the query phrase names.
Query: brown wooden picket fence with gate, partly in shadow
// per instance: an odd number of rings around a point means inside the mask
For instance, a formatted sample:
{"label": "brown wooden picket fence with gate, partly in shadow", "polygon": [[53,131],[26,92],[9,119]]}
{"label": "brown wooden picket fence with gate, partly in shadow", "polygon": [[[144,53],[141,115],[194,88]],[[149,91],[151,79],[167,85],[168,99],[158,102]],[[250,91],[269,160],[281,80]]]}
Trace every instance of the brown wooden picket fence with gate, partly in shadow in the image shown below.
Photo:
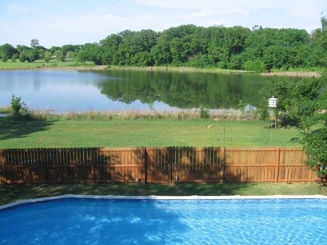
{"label": "brown wooden picket fence with gate, partly in shadow", "polygon": [[314,182],[297,148],[0,150],[0,183]]}

